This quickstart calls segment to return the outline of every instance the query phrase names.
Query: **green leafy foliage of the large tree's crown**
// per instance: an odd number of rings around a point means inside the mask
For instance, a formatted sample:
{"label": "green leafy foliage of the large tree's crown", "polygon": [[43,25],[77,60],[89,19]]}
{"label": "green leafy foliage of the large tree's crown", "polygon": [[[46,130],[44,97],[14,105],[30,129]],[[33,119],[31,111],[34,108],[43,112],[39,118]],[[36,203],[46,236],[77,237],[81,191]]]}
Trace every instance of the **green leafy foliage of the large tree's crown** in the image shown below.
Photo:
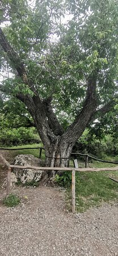
{"label": "green leafy foliage of the large tree's crown", "polygon": [[[3,2],[10,24],[4,28],[12,47],[19,52],[41,98],[53,94],[59,119],[68,125],[82,108],[87,79],[98,73],[98,105],[116,98],[117,92],[117,5],[116,1],[27,1]],[[70,12],[68,26],[58,24]],[[10,10],[10,11],[9,11]],[[40,17],[40,18],[39,18]],[[109,19],[109,17],[111,17]],[[57,43],[50,42],[57,34]],[[45,52],[45,54],[44,54]],[[4,65],[4,63],[3,63]],[[22,79],[4,82],[8,93],[30,94]],[[60,111],[61,110],[61,111]],[[69,120],[70,119],[70,120]],[[65,121],[64,121],[65,122]]]}

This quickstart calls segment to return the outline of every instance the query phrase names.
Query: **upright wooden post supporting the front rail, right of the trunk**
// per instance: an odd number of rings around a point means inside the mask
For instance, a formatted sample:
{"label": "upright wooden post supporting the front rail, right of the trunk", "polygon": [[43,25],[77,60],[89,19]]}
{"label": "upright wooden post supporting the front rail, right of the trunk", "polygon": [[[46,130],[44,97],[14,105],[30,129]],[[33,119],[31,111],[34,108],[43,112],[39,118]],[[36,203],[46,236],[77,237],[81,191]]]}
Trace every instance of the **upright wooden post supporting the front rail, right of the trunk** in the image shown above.
{"label": "upright wooden post supporting the front rail, right of the trunk", "polygon": [[75,170],[72,171],[72,179],[71,179],[71,203],[72,207],[71,210],[73,213],[75,213]]}

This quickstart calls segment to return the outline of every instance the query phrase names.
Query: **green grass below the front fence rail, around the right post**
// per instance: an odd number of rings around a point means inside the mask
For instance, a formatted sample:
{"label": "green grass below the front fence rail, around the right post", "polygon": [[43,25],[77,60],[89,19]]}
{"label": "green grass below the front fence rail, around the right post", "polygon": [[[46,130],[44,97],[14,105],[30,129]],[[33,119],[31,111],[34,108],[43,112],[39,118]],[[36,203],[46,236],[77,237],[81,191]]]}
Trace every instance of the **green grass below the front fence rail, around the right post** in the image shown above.
{"label": "green grass below the front fence rail, around the right post", "polygon": [[[108,176],[117,172],[81,172],[76,174],[76,210],[84,212],[90,207],[98,207],[103,201],[118,200],[118,183]],[[70,182],[71,183],[71,182]],[[71,187],[66,196],[68,208],[71,208]]]}

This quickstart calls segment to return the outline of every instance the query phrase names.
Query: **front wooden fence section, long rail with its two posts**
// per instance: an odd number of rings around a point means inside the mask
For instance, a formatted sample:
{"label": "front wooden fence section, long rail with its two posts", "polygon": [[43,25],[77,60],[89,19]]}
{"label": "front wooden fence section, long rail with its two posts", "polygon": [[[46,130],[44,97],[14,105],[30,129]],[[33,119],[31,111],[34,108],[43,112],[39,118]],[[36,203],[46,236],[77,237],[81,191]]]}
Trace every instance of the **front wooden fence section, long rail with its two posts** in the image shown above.
{"label": "front wooden fence section, long rail with its two posts", "polygon": [[72,172],[72,183],[71,183],[71,210],[73,213],[75,213],[75,171],[79,172],[86,172],[86,171],[92,171],[92,172],[98,172],[98,171],[118,171],[117,167],[110,167],[110,168],[70,168],[70,167],[35,167],[35,166],[17,166],[12,165],[0,154],[1,159],[8,167],[7,172],[7,187],[6,187],[6,197],[10,195],[10,180],[11,180],[11,171],[12,168],[19,168],[19,169],[33,169],[33,170],[43,170],[43,171],[71,171]]}

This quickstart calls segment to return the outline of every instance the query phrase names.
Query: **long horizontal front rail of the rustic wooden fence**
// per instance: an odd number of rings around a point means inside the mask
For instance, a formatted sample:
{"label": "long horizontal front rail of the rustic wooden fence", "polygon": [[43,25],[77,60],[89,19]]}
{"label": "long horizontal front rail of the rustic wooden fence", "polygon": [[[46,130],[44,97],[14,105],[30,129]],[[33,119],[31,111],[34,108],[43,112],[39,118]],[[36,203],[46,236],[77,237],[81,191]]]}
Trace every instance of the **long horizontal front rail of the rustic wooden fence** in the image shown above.
{"label": "long horizontal front rail of the rustic wooden fence", "polygon": [[34,169],[34,170],[44,170],[44,171],[72,171],[76,170],[79,172],[99,172],[99,171],[118,171],[118,166],[117,167],[110,167],[110,168],[68,168],[68,167],[35,167],[35,166],[16,166],[10,164],[11,168],[19,168],[19,169]]}

